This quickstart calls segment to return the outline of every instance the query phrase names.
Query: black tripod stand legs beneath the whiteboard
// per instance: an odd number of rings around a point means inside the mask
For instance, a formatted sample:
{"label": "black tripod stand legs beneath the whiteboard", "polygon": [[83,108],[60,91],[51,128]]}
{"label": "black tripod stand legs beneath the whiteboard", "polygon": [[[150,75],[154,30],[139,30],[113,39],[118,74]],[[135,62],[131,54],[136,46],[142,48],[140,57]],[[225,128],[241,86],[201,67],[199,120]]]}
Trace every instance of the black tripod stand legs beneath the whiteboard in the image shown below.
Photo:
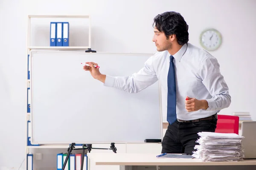
{"label": "black tripod stand legs beneath the whiteboard", "polygon": [[66,167],[66,164],[67,164],[67,160],[69,159],[70,157],[70,153],[72,152],[72,150],[83,150],[82,152],[82,159],[81,159],[81,170],[83,170],[83,167],[84,167],[84,154],[85,154],[85,150],[87,149],[88,152],[90,153],[90,151],[92,149],[103,149],[103,150],[113,150],[114,153],[116,153],[116,147],[115,147],[115,143],[111,143],[111,146],[110,148],[97,148],[97,147],[92,147],[92,144],[83,144],[82,145],[82,148],[75,148],[75,145],[76,143],[72,143],[70,144],[70,147],[67,149],[67,157],[64,161],[64,164],[63,164],[63,167],[62,167],[62,170],[65,169]]}

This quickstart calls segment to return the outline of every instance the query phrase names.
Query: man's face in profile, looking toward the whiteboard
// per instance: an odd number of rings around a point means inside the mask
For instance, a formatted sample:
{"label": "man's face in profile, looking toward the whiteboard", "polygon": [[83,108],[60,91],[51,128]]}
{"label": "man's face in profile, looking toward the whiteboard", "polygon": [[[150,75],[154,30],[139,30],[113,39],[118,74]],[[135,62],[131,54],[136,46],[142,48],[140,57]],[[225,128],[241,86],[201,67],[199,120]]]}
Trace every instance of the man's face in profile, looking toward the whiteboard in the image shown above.
{"label": "man's face in profile, looking toward the whiteboard", "polygon": [[156,28],[154,28],[154,37],[152,41],[157,46],[157,51],[165,51],[172,47],[171,40],[167,40],[166,35],[163,32],[158,31]]}

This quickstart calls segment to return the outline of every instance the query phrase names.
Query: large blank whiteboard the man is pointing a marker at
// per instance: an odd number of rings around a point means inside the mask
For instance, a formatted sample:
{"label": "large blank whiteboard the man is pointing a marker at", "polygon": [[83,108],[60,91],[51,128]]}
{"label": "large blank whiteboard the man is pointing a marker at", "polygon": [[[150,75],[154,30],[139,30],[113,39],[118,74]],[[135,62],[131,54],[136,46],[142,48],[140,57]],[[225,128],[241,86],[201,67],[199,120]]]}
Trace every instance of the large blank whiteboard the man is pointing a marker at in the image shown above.
{"label": "large blank whiteboard the man is pointing a marker at", "polygon": [[162,139],[158,81],[137,94],[106,87],[84,71],[131,76],[152,54],[31,51],[32,144],[144,142]]}

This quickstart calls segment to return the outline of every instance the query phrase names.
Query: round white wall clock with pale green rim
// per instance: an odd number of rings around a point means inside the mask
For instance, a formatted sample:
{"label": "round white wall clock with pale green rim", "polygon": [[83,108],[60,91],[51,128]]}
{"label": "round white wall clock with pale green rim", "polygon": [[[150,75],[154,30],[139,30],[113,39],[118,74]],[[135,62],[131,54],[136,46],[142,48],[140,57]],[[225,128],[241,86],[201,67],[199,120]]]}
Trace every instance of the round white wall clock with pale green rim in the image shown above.
{"label": "round white wall clock with pale green rim", "polygon": [[221,45],[221,34],[215,29],[207,29],[200,35],[202,47],[208,51],[213,51]]}

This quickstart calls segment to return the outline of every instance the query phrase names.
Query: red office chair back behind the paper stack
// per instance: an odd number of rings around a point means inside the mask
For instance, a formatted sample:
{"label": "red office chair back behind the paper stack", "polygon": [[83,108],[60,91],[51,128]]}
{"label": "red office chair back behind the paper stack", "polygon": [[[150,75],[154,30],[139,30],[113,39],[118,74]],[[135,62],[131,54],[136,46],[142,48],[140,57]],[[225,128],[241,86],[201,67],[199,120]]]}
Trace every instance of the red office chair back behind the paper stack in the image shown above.
{"label": "red office chair back behind the paper stack", "polygon": [[236,133],[239,130],[239,116],[218,115],[216,133]]}

